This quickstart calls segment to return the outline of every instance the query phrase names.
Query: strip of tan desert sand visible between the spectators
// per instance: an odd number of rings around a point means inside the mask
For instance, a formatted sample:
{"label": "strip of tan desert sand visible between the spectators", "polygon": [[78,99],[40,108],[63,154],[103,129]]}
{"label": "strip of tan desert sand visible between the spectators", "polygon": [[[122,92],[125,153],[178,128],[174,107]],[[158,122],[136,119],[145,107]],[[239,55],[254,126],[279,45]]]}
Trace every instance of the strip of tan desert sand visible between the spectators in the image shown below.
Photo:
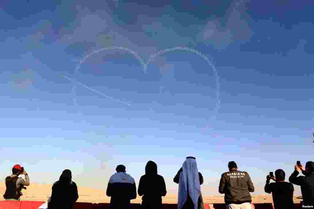
{"label": "strip of tan desert sand visible between the spectators", "polygon": [[[51,195],[52,185],[43,185],[43,184],[30,184],[27,187],[27,190],[22,190],[23,196],[21,200],[27,201],[47,201]],[[0,201],[3,201],[3,194],[5,192],[5,184],[0,183]],[[110,197],[106,196],[105,190],[93,189],[87,187],[78,187],[78,202],[110,202]],[[142,197],[137,196],[135,200],[132,200],[132,203],[141,203]],[[295,203],[299,203],[302,199],[299,196],[295,196]],[[211,203],[224,203],[223,196],[203,196],[203,201],[206,204]],[[163,203],[177,203],[177,194],[167,194],[165,197],[162,197]],[[252,196],[253,203],[272,203],[273,199],[271,195],[257,195]]]}

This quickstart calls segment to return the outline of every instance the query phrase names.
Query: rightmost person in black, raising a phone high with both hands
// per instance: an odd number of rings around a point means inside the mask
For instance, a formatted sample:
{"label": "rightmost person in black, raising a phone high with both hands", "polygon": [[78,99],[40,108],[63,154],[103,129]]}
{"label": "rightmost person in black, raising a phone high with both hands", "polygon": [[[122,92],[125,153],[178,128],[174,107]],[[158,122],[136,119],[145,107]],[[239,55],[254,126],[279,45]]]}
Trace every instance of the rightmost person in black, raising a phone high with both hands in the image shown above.
{"label": "rightmost person in black, raising a phone high with both hands", "polygon": [[[298,176],[300,171],[304,176]],[[304,205],[314,206],[314,162],[308,161],[303,167],[298,161],[295,165],[295,171],[289,177],[289,181],[292,184],[301,186]]]}

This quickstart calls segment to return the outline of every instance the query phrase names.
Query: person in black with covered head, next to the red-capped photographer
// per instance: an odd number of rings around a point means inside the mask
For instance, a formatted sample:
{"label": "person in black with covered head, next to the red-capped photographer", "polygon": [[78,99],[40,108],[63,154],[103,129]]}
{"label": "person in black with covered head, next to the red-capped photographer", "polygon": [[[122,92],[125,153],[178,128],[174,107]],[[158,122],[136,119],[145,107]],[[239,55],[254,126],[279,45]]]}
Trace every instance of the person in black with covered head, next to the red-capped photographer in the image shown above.
{"label": "person in black with covered head, next to the red-capped photographer", "polygon": [[48,203],[49,209],[69,208],[78,200],[77,185],[71,181],[72,173],[66,169],[62,172],[59,181],[52,186],[51,198]]}

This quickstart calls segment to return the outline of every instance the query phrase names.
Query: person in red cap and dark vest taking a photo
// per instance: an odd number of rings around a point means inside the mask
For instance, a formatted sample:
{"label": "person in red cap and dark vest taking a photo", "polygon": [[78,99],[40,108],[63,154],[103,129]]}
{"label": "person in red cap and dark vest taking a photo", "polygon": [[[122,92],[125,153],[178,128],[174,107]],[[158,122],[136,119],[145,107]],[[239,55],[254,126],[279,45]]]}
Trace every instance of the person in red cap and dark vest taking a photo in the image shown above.
{"label": "person in red cap and dark vest taking a photo", "polygon": [[[19,178],[19,175],[25,175],[25,180],[23,178]],[[30,178],[28,174],[25,172],[24,168],[19,164],[14,165],[12,168],[12,175],[5,178],[5,186],[6,190],[3,195],[6,201],[19,201],[20,196],[23,195],[21,192],[22,189],[26,189],[24,186],[30,185]]]}

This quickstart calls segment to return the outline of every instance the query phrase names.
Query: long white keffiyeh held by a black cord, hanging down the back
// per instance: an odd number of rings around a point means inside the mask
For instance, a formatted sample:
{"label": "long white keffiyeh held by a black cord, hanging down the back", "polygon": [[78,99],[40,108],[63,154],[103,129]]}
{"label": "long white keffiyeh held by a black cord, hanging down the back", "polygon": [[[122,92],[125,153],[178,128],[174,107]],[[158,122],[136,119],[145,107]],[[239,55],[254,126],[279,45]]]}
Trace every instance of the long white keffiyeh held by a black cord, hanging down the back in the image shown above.
{"label": "long white keffiyeh held by a black cord, hanging down the back", "polygon": [[194,203],[194,209],[197,209],[201,186],[196,160],[187,158],[182,165],[182,170],[179,178],[178,209],[181,209],[187,201],[187,192]]}

